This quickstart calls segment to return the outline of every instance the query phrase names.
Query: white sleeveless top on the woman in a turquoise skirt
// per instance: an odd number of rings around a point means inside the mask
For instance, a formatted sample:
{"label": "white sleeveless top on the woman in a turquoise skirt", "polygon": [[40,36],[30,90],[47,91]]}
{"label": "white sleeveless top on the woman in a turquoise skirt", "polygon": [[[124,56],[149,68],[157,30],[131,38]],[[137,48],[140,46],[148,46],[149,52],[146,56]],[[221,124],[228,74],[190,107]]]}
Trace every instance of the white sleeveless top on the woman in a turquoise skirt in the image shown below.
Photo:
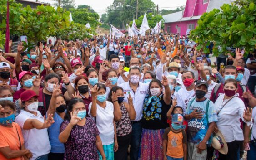
{"label": "white sleeveless top on the woman in a turquoise skirt", "polygon": [[[114,143],[114,106],[111,102],[105,101],[106,107],[102,108],[97,104],[96,126],[100,132],[102,145],[110,145]],[[89,104],[89,116],[92,102]],[[92,117],[94,119],[94,117]]]}

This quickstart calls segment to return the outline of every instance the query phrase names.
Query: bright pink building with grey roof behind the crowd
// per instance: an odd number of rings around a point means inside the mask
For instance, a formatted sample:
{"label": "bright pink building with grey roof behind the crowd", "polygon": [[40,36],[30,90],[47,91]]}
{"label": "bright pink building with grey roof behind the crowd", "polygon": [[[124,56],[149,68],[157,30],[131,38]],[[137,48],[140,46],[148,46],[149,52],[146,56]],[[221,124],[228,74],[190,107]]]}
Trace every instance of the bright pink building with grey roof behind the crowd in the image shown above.
{"label": "bright pink building with grey roof behind the crowd", "polygon": [[234,0],[187,0],[185,10],[163,15],[165,32],[186,35],[196,28],[197,20],[203,13],[220,9],[223,4],[230,4],[232,1]]}

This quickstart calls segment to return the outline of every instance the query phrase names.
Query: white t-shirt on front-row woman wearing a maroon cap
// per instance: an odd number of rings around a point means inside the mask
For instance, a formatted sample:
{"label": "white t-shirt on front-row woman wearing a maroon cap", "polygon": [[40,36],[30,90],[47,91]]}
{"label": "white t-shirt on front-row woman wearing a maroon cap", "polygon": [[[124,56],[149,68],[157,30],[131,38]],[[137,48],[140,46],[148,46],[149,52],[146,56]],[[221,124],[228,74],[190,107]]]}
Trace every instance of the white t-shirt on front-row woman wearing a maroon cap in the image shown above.
{"label": "white t-shirt on front-row woman wearing a maroon cap", "polygon": [[44,123],[44,117],[39,111],[37,111],[37,116],[35,116],[30,112],[21,110],[20,114],[15,118],[15,122],[20,125],[22,130],[25,148],[30,150],[30,152],[33,154],[30,160],[35,160],[42,155],[50,153],[50,141],[47,128],[41,130],[36,128],[24,130],[24,123],[28,119],[37,119],[38,121]]}

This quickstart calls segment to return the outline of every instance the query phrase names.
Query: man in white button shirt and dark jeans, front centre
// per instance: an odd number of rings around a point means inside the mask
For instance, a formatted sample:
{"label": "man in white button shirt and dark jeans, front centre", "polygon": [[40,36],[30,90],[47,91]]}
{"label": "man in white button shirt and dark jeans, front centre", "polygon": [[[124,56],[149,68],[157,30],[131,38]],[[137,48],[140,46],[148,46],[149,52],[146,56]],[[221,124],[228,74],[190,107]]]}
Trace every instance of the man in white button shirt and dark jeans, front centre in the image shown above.
{"label": "man in white button shirt and dark jeans, front centre", "polygon": [[144,99],[147,94],[148,85],[140,82],[141,70],[137,66],[133,66],[129,70],[128,74],[129,82],[120,84],[120,87],[124,89],[125,102],[128,102],[129,94],[133,99],[133,106],[136,111],[136,118],[131,121],[132,124],[132,136],[131,136],[131,160],[138,160],[140,141],[141,141],[141,131],[142,131],[142,108]]}

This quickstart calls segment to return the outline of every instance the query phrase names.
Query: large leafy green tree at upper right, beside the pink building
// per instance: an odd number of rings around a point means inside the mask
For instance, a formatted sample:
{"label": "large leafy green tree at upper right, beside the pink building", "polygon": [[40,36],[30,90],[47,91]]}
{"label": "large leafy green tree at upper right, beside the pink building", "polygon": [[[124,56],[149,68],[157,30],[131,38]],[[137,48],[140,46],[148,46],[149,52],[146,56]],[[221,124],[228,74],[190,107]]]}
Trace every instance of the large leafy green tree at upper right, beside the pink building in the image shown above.
{"label": "large leafy green tree at upper right, beside the pink building", "polygon": [[221,10],[204,13],[191,31],[191,39],[198,43],[197,49],[209,53],[207,46],[214,42],[213,53],[225,53],[226,47],[245,47],[246,54],[255,48],[256,5],[254,0],[237,0],[224,4]]}

